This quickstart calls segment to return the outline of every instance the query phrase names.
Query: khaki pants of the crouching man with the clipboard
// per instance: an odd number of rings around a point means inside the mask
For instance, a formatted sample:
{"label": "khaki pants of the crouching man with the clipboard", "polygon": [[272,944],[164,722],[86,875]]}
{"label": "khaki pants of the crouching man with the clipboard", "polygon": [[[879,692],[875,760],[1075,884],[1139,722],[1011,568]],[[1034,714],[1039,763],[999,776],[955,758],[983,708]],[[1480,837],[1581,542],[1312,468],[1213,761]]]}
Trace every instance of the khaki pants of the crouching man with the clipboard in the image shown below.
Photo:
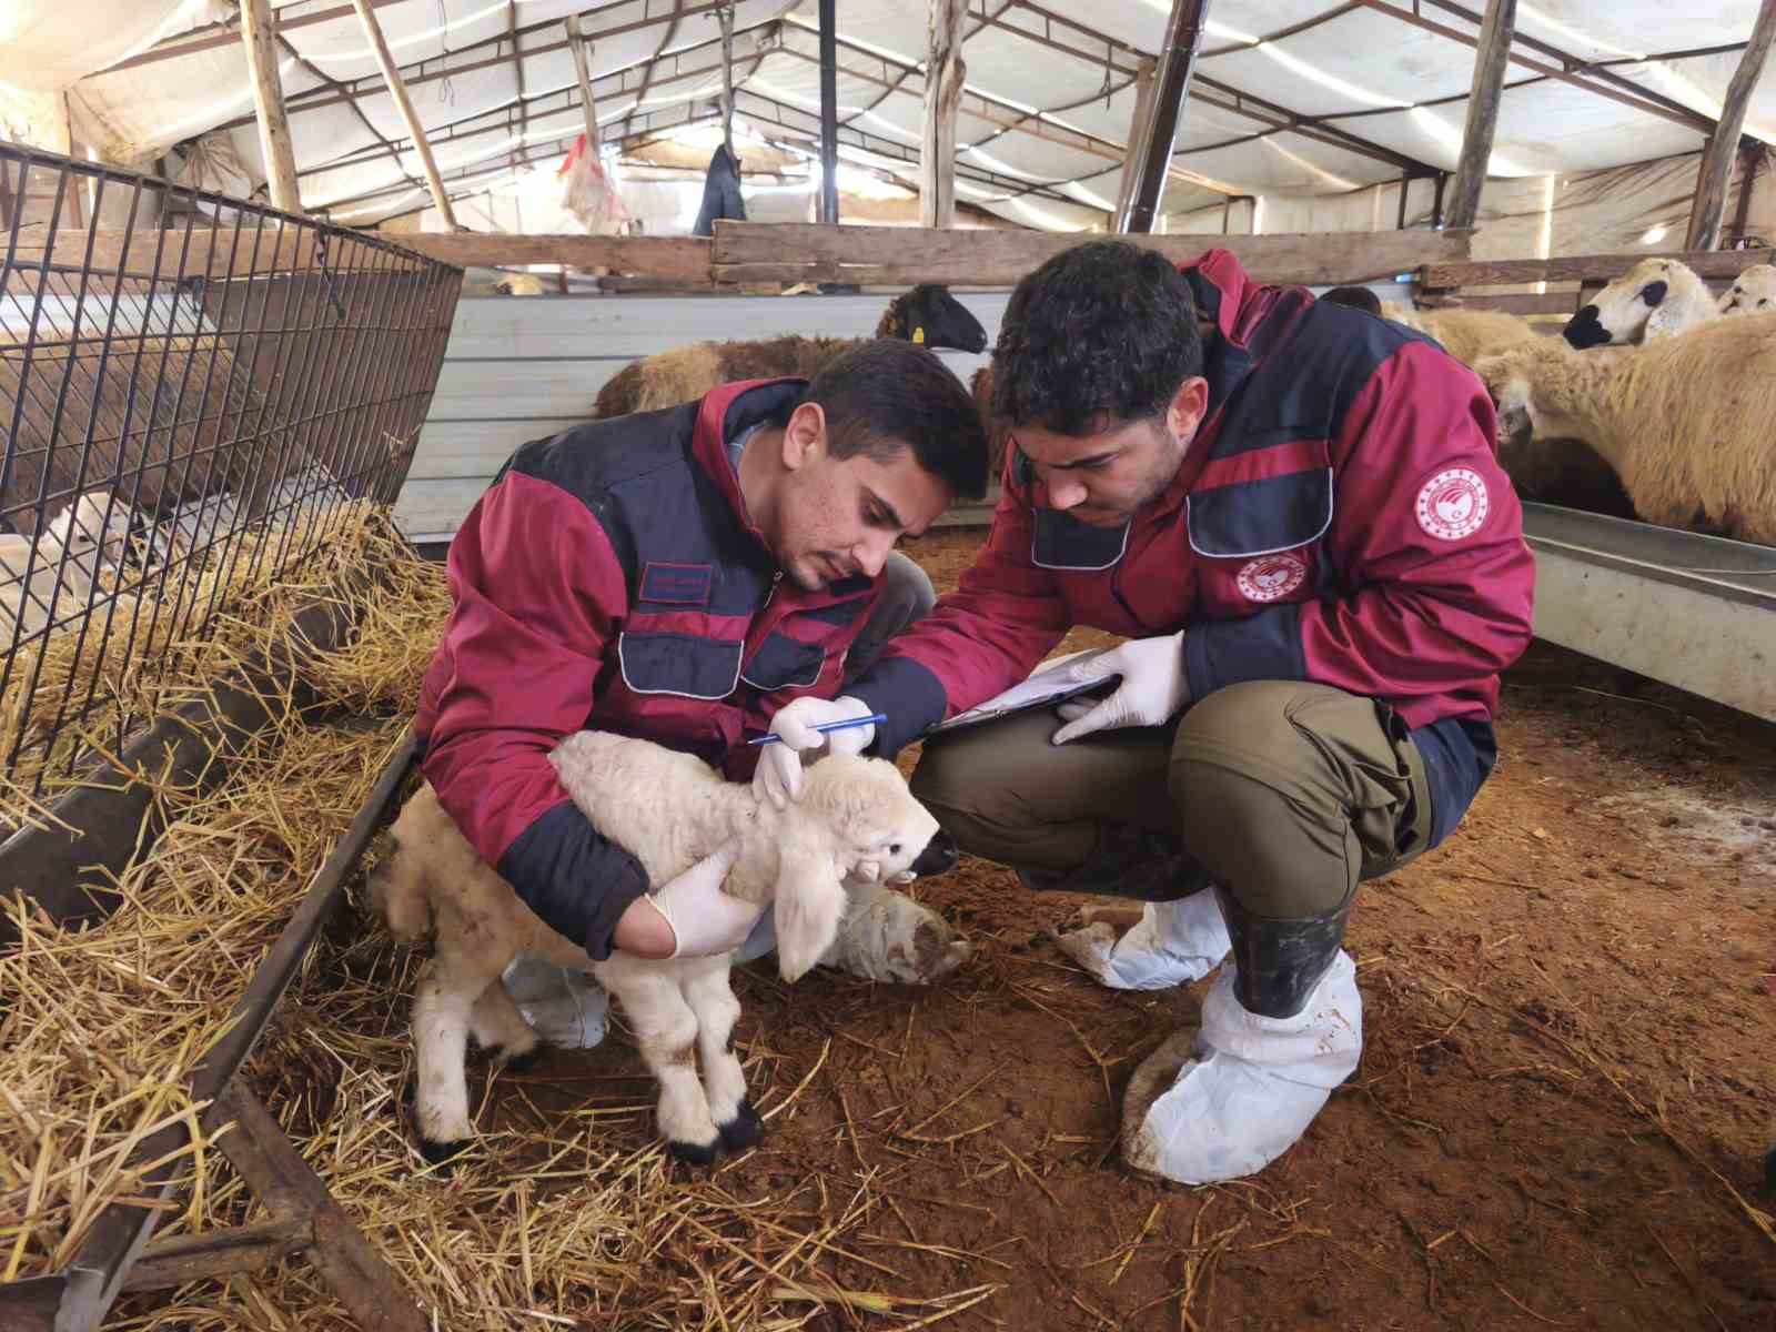
{"label": "khaki pants of the crouching man with the clipboard", "polygon": [[1165,726],[1055,746],[1060,725],[1039,710],[934,737],[913,794],[963,851],[1016,868],[1076,868],[1103,824],[1176,835],[1202,870],[1179,897],[1213,879],[1284,920],[1334,909],[1430,842],[1424,762],[1373,698],[1252,680]]}

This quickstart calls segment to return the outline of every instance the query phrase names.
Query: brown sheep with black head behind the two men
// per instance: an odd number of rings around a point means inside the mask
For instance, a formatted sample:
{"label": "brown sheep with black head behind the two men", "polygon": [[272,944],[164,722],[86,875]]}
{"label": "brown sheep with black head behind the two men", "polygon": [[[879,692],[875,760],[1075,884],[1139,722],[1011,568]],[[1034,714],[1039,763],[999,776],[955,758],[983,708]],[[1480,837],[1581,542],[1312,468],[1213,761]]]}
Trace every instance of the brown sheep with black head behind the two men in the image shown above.
{"label": "brown sheep with black head behind the two men", "polygon": [[[929,348],[984,352],[986,329],[950,295],[924,282],[888,302],[876,337],[900,337]],[[630,361],[599,389],[593,419],[654,412],[702,398],[735,380],[813,378],[829,361],[860,346],[861,337],[769,337],[739,343],[691,343]]]}

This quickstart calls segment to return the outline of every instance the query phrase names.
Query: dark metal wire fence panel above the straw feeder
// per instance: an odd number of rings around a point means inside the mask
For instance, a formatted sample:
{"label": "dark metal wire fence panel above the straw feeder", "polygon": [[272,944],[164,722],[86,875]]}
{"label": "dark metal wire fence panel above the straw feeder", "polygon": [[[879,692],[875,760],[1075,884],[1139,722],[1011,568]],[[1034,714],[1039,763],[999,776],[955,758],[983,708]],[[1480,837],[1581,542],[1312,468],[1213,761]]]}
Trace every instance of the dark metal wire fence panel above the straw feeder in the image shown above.
{"label": "dark metal wire fence panel above the straw feeder", "polygon": [[226,590],[394,501],[462,275],[4,142],[0,229],[0,702],[36,718],[0,730],[0,776],[41,792],[103,702],[82,661],[151,675]]}

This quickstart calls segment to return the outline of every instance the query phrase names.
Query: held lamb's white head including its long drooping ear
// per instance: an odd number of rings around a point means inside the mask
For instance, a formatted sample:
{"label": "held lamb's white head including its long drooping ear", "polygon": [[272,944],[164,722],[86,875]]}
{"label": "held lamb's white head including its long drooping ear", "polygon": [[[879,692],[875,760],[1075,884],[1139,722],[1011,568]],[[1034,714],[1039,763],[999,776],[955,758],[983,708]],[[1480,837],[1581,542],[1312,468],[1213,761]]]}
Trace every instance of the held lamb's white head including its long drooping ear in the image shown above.
{"label": "held lamb's white head including its long drooping ear", "polygon": [[955,863],[955,842],[884,758],[833,755],[808,769],[780,824],[773,908],[778,968],[796,980],[838,938],[845,879],[909,883]]}

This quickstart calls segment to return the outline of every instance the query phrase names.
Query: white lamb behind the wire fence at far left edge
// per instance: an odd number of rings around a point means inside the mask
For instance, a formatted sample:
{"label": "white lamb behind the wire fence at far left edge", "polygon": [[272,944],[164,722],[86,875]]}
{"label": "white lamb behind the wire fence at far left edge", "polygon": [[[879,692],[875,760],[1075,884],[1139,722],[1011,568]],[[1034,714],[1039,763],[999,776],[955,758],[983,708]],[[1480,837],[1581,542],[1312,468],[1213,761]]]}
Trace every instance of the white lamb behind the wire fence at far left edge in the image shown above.
{"label": "white lamb behind the wire fence at far left edge", "polygon": [[128,508],[103,490],[80,496],[44,524],[36,542],[0,535],[0,652],[11,652],[14,625],[20,638],[28,638],[52,620],[78,614],[99,568],[114,565],[128,540]]}

